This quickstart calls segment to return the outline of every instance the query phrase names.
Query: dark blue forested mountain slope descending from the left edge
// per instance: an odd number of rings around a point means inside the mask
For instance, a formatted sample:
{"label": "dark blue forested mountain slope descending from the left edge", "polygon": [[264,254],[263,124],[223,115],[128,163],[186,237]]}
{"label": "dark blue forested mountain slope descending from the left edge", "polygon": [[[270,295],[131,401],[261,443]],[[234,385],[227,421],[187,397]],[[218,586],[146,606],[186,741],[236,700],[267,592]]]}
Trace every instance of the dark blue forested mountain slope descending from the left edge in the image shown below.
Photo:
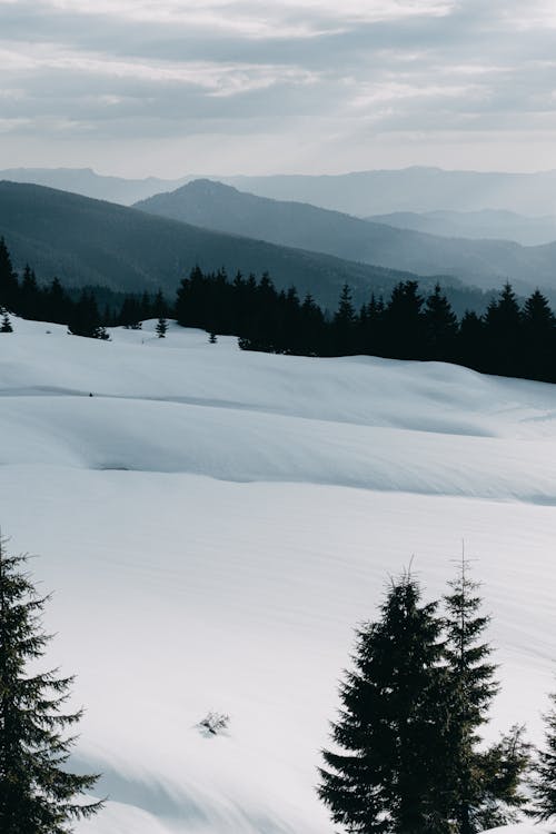
{"label": "dark blue forested mountain slope descending from the left edge", "polygon": [[294,284],[300,294],[310,291],[331,307],[345,282],[363,301],[370,288],[388,292],[398,280],[416,277],[6,181],[0,182],[0,236],[16,265],[22,268],[29,262],[41,280],[57,275],[71,286],[103,285],[127,291],[161,287],[170,297],[196,264],[205,270],[224,266],[230,275],[238,269],[258,276],[269,271],[277,287]]}

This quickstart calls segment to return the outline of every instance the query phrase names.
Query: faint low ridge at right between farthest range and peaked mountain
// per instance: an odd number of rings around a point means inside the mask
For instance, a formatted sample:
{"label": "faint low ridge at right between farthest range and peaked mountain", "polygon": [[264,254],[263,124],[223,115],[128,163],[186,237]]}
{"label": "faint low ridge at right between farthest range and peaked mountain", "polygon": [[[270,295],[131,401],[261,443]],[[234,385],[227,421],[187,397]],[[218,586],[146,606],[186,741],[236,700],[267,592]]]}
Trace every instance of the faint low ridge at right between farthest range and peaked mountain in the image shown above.
{"label": "faint low ridge at right between farthest range and peaked mountain", "polygon": [[370,222],[413,229],[450,238],[513,240],[522,246],[540,246],[556,240],[556,218],[525,217],[514,211],[483,209],[481,211],[394,211],[371,215]]}

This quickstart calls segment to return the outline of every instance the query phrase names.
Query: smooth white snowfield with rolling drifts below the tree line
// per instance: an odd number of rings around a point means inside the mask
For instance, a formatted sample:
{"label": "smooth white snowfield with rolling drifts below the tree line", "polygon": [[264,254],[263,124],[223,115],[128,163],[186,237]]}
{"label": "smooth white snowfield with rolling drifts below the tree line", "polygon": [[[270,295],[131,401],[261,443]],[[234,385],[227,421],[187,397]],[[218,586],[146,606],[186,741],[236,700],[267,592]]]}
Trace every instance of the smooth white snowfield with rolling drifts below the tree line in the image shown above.
{"label": "smooth white snowfield with rolling drifts below the tree line", "polygon": [[463,540],[504,684],[487,732],[538,742],[556,387],[153,327],[0,335],[0,524],[56,590],[49,662],[87,707],[73,765],[109,795],[79,834],[331,834],[316,766],[353,628],[411,557],[444,593]]}

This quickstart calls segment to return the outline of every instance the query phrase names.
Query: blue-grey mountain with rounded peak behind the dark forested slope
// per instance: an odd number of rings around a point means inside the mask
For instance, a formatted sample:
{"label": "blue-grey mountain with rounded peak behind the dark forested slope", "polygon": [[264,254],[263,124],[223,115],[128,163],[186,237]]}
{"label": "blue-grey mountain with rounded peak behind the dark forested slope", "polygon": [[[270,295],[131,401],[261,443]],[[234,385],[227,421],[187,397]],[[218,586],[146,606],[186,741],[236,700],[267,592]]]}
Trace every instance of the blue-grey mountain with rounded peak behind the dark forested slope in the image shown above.
{"label": "blue-grey mountain with rounded peak behind the dark forested slope", "polygon": [[508,278],[520,291],[556,290],[556,244],[522,247],[504,240],[461,240],[395,229],[337,211],[244,193],[196,180],[137,203],[151,214],[280,246],[419,275],[448,275],[483,288]]}

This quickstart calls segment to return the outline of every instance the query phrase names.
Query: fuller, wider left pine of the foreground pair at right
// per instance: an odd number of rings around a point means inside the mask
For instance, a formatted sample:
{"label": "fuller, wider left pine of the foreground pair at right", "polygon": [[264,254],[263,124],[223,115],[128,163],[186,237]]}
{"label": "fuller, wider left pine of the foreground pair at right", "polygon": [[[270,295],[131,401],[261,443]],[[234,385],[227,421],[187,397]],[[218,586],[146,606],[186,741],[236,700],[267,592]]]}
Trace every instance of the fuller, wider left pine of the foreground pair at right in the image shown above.
{"label": "fuller, wider left pine of the foreground pair at right", "polygon": [[448,832],[443,808],[444,672],[437,604],[409,575],[393,583],[380,619],[357,632],[355,671],[324,751],[318,793],[350,834]]}

